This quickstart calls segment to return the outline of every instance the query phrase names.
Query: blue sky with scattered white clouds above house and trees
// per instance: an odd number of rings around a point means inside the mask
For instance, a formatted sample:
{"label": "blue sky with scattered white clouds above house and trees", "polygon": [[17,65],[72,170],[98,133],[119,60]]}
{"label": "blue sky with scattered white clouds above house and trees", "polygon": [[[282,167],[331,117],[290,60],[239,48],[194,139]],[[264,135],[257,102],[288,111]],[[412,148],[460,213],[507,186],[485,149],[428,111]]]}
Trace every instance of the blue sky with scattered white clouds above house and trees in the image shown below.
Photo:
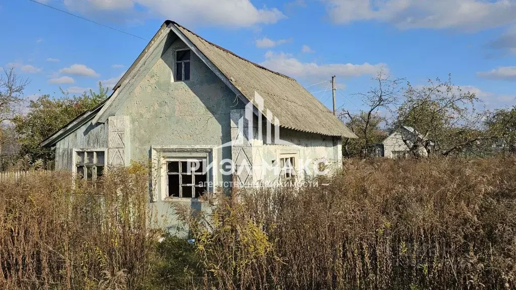
{"label": "blue sky with scattered white clouds above house and trees", "polygon": [[[413,85],[452,80],[489,108],[516,104],[516,0],[28,0],[0,3],[0,67],[31,80],[34,98],[112,87],[165,19],[303,86],[336,75],[337,106],[380,67]],[[329,82],[309,91],[331,107]]]}

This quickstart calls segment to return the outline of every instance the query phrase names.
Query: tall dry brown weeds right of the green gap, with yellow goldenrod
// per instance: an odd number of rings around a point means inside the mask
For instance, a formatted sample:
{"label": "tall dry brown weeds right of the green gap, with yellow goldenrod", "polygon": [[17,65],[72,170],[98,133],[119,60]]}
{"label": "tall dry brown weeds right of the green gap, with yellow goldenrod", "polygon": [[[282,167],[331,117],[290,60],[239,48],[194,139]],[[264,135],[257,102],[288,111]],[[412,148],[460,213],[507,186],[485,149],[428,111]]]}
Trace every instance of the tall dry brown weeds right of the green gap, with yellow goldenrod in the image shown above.
{"label": "tall dry brown weeds right of the green gap, with yellow goldenrod", "polygon": [[317,181],[180,208],[198,287],[516,287],[516,158],[352,160]]}

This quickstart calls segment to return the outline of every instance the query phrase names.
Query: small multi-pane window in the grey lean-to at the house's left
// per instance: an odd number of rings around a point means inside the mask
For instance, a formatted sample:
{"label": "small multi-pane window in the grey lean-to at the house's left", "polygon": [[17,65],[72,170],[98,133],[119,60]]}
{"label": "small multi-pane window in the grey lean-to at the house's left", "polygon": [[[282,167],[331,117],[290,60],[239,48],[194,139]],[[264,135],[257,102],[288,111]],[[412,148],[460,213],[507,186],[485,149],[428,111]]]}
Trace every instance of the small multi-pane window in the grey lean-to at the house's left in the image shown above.
{"label": "small multi-pane window in the grey lean-to at the house's left", "polygon": [[104,174],[105,151],[76,151],[75,169],[80,179],[94,180]]}

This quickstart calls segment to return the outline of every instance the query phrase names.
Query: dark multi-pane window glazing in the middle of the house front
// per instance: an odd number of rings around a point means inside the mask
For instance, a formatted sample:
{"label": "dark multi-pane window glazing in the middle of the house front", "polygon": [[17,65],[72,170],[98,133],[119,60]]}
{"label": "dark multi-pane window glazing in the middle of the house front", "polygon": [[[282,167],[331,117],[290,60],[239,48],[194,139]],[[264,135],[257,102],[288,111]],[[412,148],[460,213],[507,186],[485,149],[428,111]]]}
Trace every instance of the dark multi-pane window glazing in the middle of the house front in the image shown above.
{"label": "dark multi-pane window glazing in the middle of the house front", "polygon": [[207,190],[206,160],[187,159],[167,161],[168,196],[199,198]]}

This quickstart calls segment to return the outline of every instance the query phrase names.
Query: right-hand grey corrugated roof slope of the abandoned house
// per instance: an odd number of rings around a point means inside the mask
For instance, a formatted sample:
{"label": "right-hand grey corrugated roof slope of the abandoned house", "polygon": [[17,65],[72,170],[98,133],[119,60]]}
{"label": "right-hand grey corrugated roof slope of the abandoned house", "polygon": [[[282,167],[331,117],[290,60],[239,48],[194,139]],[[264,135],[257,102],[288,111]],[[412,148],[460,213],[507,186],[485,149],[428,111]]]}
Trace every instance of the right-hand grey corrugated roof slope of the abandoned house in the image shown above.
{"label": "right-hand grey corrugated roof slope of the abandoned house", "polygon": [[249,101],[254,92],[280,126],[328,136],[357,138],[341,120],[295,79],[270,71],[173,23]]}

